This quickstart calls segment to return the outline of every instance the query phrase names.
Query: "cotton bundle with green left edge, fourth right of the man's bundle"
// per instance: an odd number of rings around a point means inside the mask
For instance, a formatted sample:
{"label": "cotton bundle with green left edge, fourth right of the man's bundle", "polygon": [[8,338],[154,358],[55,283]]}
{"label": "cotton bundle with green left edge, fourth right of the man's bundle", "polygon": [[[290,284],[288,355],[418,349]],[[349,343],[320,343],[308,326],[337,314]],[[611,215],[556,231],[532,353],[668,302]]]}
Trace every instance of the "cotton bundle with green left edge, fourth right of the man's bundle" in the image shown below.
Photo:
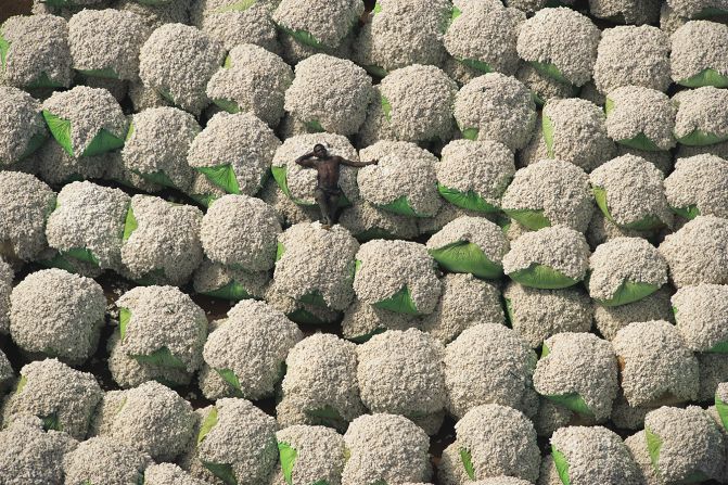
{"label": "cotton bundle with green left edge, fourth right of the man's bundle", "polygon": [[597,205],[610,221],[624,229],[672,227],[664,175],[635,155],[622,155],[597,168],[590,181]]}

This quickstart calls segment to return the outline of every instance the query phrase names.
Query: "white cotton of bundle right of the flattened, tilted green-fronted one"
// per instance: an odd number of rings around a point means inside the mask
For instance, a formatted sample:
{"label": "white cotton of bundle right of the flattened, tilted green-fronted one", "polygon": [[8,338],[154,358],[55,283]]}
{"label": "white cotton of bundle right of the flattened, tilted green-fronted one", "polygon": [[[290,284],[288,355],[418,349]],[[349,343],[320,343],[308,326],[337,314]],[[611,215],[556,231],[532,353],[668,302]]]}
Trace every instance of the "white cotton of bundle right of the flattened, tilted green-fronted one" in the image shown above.
{"label": "white cotton of bundle right of the flattened, tilted green-fronted one", "polygon": [[503,257],[503,271],[509,275],[536,264],[579,281],[589,268],[589,254],[580,232],[563,226],[544,228],[511,243],[511,251]]}

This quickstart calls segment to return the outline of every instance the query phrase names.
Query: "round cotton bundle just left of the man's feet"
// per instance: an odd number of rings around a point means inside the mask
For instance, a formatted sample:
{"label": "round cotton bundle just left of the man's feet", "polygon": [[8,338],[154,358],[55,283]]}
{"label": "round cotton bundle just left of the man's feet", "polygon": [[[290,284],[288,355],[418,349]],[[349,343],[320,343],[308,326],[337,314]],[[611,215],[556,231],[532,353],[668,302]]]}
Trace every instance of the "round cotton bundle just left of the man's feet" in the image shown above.
{"label": "round cotton bundle just left of the man's feet", "polygon": [[265,271],[276,263],[276,240],[281,231],[276,212],[265,202],[247,195],[225,195],[203,216],[200,239],[212,261]]}

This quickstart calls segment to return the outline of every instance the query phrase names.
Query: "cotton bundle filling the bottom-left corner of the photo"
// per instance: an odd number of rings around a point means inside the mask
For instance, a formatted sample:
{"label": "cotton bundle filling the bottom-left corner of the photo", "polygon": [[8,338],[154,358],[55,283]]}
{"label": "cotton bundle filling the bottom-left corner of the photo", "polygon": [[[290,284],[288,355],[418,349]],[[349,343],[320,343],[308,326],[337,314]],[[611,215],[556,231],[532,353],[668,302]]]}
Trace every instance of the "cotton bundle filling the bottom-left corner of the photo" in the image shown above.
{"label": "cotton bundle filling the bottom-left corner of the photo", "polygon": [[43,484],[64,483],[63,458],[78,443],[60,431],[46,432],[42,421],[21,416],[0,431],[4,444],[0,455],[0,478],[13,485],[25,477]]}

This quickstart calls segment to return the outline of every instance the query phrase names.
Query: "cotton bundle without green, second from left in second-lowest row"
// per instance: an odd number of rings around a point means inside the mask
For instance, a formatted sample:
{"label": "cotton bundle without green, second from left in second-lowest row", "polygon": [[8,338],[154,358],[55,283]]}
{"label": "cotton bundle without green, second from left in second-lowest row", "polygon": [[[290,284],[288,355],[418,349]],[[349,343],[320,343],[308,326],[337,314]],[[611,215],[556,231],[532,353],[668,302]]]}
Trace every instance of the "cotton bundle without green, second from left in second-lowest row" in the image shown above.
{"label": "cotton bundle without green, second from left in second-lowest row", "polygon": [[174,461],[193,439],[195,422],[190,403],[150,381],[127,391],[108,391],[97,411],[94,431],[155,461]]}

